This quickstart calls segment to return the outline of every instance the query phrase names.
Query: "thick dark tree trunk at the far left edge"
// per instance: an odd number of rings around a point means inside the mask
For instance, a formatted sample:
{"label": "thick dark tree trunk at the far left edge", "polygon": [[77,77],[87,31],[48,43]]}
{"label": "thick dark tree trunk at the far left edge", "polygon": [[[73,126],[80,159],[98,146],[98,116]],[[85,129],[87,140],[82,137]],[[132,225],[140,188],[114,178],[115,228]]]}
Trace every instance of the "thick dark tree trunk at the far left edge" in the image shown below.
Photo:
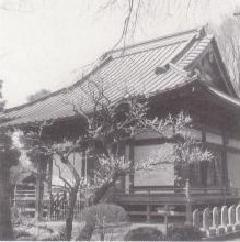
{"label": "thick dark tree trunk at the far left edge", "polygon": [[11,221],[11,186],[9,177],[10,167],[0,164],[0,240],[14,240]]}

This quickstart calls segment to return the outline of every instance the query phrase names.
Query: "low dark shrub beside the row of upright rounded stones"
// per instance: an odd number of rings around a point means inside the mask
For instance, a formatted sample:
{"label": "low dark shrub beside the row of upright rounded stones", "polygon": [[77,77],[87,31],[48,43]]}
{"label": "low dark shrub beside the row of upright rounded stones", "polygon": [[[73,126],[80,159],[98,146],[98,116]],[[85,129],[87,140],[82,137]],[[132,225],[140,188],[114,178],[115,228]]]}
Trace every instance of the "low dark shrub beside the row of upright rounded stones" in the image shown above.
{"label": "low dark shrub beside the row of upright rounded stones", "polygon": [[171,241],[194,241],[201,239],[201,232],[193,227],[171,228],[168,231]]}

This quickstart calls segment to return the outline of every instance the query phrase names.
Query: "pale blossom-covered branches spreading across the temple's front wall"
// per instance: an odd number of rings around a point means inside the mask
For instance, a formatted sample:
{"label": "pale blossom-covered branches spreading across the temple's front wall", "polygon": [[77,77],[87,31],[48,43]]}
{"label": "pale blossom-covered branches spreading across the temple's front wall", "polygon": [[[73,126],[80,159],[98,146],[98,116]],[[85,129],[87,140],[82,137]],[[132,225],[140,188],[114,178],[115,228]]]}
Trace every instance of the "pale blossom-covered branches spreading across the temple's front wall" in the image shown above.
{"label": "pale blossom-covered branches spreading across the temple's front wall", "polygon": [[[131,103],[131,105],[133,104]],[[120,176],[129,174],[133,170],[144,169],[151,171],[151,169],[155,169],[156,166],[165,164],[166,162],[169,164],[171,162],[174,163],[179,169],[187,169],[191,163],[213,160],[214,155],[206,150],[200,141],[195,140],[191,136],[191,131],[188,131],[192,123],[189,115],[181,112],[175,116],[169,114],[165,119],[155,118],[152,120],[147,116],[146,107],[146,103],[135,103],[131,107],[132,109],[128,110],[129,113],[127,115],[125,114],[125,120],[118,123],[117,127],[121,126],[125,134],[128,134],[127,137],[134,137],[139,130],[154,131],[166,143],[174,143],[173,150],[169,152],[167,157],[160,155],[157,159],[149,157],[141,162],[134,161],[134,167],[132,167],[132,161],[126,160],[124,155],[119,155],[120,145],[118,146],[117,143],[115,150],[108,150],[107,154],[103,153],[96,157],[97,165],[94,171],[95,189],[102,187],[103,184],[115,183]],[[114,137],[114,140],[117,140],[117,137]],[[121,138],[119,140],[121,141]],[[181,176],[181,174],[176,173],[176,176]],[[184,177],[184,179],[186,178],[188,177]],[[181,177],[176,177],[176,179],[181,179]]]}

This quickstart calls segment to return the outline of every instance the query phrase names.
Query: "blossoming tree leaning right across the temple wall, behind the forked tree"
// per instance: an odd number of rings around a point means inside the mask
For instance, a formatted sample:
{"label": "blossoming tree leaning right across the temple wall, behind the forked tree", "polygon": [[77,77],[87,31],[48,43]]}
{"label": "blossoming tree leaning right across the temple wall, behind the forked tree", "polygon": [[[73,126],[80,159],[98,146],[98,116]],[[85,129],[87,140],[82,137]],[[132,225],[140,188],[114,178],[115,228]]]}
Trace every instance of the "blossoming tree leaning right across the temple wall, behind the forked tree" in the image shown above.
{"label": "blossoming tree leaning right across the temple wall, behind the forked tree", "polygon": [[[146,159],[138,162],[127,161],[120,150],[122,141],[133,138],[139,130],[151,130],[158,133],[166,143],[174,143],[174,149],[169,153],[167,160],[173,162],[178,167],[176,174],[178,179],[185,180],[190,175],[181,177],[181,169],[187,168],[191,163],[210,161],[213,154],[203,148],[201,142],[196,141],[187,128],[191,127],[191,118],[184,113],[176,116],[169,115],[164,119],[150,119],[148,117],[148,102],[139,101],[136,97],[125,100],[118,106],[118,118],[116,119],[117,109],[110,109],[107,112],[109,118],[105,118],[106,123],[101,123],[98,128],[98,137],[101,137],[101,147],[104,152],[95,155],[96,169],[94,171],[94,193],[93,204],[98,204],[106,194],[106,191],[115,185],[121,177],[138,170],[151,171],[156,166],[166,164],[166,157],[161,156],[157,159]],[[105,112],[106,115],[106,112]],[[101,119],[102,120],[102,119]],[[86,224],[82,229],[78,239],[89,240],[94,230],[94,224]]]}

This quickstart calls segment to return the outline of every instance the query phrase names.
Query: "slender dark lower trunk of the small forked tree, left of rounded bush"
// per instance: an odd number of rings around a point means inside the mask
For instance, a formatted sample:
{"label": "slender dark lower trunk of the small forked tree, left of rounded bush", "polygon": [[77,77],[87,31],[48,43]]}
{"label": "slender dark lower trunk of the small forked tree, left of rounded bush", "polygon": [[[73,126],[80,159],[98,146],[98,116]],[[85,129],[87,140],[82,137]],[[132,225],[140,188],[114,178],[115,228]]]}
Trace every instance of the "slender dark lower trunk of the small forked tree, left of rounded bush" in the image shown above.
{"label": "slender dark lower trunk of the small forked tree, left of rounded bush", "polygon": [[79,185],[75,186],[70,191],[70,199],[69,199],[69,208],[67,212],[67,218],[66,218],[66,240],[71,240],[72,237],[72,222],[73,222],[73,213],[74,208],[77,201],[77,194],[78,194],[78,188]]}

